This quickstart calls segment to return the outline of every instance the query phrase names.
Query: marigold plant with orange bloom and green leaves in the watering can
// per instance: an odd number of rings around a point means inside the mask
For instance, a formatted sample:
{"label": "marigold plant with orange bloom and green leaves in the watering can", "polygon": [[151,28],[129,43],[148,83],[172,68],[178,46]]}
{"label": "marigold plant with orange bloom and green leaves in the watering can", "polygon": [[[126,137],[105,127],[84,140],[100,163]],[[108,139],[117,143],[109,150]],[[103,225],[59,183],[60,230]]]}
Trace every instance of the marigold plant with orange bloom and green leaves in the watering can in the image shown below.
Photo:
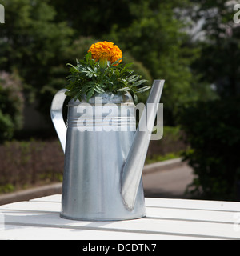
{"label": "marigold plant with orange bloom and green leaves in the watering can", "polygon": [[96,94],[130,92],[134,102],[138,102],[138,93],[150,89],[143,86],[146,82],[141,76],[130,70],[132,63],[122,65],[122,50],[113,42],[97,42],[90,46],[85,58],[77,65],[70,66],[69,84],[66,95],[82,101],[86,96],[88,102]]}

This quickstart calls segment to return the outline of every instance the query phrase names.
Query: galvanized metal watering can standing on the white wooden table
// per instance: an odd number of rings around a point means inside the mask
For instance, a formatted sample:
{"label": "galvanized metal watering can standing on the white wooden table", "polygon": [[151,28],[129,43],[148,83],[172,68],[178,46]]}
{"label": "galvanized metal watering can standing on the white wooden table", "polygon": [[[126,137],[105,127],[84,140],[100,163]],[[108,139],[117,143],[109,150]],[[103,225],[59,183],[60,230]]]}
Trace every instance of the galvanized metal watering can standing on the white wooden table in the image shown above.
{"label": "galvanized metal watering can standing on the white wooden table", "polygon": [[128,93],[99,94],[88,103],[70,100],[67,127],[62,118],[66,89],[55,94],[50,114],[65,152],[62,218],[110,221],[146,215],[142,169],[157,113],[156,107],[147,108],[157,106],[163,84],[154,80],[137,130]]}

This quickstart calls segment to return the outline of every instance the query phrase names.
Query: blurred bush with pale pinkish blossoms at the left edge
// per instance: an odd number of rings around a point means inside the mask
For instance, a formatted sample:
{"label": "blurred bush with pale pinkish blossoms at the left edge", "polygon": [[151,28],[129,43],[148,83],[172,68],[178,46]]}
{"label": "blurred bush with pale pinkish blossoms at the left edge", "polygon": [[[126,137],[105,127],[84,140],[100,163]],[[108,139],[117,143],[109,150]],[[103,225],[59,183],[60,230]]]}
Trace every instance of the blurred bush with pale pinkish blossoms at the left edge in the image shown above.
{"label": "blurred bush with pale pinkish blossoms at the left edge", "polygon": [[0,72],[0,142],[22,128],[22,82],[18,74]]}

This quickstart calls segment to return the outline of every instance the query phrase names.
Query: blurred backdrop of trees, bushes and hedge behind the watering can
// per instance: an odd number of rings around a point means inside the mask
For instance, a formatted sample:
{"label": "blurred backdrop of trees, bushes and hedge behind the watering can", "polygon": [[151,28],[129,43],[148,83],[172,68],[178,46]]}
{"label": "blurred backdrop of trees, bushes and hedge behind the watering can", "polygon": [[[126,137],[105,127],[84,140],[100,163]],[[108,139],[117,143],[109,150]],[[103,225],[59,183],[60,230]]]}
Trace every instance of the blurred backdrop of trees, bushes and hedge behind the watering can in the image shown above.
{"label": "blurred backdrop of trees, bushes and hedge behind the watering can", "polygon": [[191,198],[239,200],[237,3],[0,1],[0,194],[62,181],[50,103],[66,86],[66,63],[106,40],[150,84],[166,80],[164,134],[150,142],[146,163],[181,157],[194,170],[186,190]]}

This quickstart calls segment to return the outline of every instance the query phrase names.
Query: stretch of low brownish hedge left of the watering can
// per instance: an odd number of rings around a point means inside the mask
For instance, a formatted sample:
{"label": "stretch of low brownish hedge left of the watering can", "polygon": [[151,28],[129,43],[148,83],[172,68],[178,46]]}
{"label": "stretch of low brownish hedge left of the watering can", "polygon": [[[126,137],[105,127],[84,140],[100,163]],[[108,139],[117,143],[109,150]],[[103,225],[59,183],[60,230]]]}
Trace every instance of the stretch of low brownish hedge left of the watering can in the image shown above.
{"label": "stretch of low brownish hedge left of the watering can", "polygon": [[61,182],[63,164],[58,140],[5,142],[0,145],[0,194]]}

